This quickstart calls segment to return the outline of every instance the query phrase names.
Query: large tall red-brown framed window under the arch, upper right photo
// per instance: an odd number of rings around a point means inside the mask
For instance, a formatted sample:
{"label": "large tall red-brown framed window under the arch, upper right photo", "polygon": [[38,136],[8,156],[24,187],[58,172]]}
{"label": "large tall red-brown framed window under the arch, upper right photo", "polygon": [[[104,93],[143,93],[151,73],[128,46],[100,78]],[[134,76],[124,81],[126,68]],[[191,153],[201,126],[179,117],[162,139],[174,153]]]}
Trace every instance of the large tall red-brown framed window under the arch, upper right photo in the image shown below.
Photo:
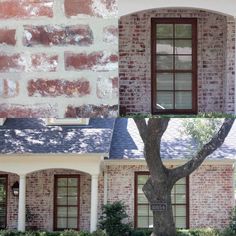
{"label": "large tall red-brown framed window under the arch, upper right photo", "polygon": [[152,113],[197,113],[197,20],[152,19]]}

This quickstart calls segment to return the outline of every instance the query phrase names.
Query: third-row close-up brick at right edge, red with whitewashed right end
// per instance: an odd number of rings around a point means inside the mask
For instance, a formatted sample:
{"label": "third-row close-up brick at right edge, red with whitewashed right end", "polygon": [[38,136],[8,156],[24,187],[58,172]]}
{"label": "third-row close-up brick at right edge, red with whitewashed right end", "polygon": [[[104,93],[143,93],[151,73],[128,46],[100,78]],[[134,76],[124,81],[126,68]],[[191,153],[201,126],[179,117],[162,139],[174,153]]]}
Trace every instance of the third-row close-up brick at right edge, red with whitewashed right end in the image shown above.
{"label": "third-row close-up brick at right edge, red with whitewashed right end", "polygon": [[66,70],[109,71],[117,68],[118,56],[106,52],[65,53]]}

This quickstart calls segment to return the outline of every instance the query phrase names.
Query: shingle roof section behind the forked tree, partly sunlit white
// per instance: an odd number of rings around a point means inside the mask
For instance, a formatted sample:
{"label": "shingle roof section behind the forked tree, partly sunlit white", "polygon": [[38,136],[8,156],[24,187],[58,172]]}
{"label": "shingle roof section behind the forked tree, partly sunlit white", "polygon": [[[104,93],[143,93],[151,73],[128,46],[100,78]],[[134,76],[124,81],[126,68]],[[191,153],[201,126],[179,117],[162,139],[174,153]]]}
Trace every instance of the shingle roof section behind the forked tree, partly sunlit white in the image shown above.
{"label": "shingle roof section behind the forked tree, partly sunlit white", "polygon": [[[166,160],[191,158],[197,144],[183,132],[184,119],[172,118],[161,141],[161,157]],[[236,122],[225,139],[208,159],[236,159]],[[115,122],[110,149],[111,159],[144,159],[143,141],[133,119],[118,118]]]}

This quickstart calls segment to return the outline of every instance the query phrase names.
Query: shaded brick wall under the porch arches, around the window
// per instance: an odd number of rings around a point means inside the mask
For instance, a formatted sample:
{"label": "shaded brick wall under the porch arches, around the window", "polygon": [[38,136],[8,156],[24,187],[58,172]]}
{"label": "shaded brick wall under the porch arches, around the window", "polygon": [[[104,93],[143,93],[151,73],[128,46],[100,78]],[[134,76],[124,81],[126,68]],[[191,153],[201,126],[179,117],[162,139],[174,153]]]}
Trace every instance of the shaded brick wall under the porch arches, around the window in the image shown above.
{"label": "shaded brick wall under the porch arches, around the window", "polygon": [[[26,180],[26,207],[29,209],[32,220],[26,226],[53,230],[53,202],[54,202],[54,175],[80,174],[80,229],[89,230],[90,224],[90,196],[91,177],[73,170],[44,170],[27,175]],[[17,228],[18,197],[14,197],[11,187],[18,181],[17,175],[8,175],[8,217],[7,227]]]}

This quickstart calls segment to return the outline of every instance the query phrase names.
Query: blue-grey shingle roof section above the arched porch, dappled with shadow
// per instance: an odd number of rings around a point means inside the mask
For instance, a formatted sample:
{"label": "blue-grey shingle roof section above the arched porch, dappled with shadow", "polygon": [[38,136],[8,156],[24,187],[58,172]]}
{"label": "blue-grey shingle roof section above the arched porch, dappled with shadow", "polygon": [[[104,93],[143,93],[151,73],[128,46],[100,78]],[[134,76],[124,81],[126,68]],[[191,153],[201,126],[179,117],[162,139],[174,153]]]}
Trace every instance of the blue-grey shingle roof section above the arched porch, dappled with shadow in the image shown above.
{"label": "blue-grey shingle roof section above the arched porch, dappled with shadow", "polygon": [[114,119],[88,126],[47,126],[44,119],[7,119],[0,126],[0,154],[109,153]]}

